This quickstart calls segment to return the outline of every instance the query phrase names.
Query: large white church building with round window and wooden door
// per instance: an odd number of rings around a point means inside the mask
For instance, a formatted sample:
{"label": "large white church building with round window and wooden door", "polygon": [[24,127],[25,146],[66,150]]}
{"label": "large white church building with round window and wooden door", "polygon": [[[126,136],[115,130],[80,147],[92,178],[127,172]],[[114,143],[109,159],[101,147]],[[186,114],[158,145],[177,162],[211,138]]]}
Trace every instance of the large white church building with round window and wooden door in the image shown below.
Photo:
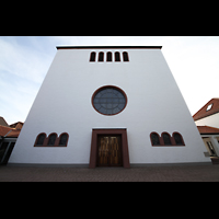
{"label": "large white church building with round window and wooden door", "polygon": [[161,46],[58,46],[9,163],[210,162]]}

